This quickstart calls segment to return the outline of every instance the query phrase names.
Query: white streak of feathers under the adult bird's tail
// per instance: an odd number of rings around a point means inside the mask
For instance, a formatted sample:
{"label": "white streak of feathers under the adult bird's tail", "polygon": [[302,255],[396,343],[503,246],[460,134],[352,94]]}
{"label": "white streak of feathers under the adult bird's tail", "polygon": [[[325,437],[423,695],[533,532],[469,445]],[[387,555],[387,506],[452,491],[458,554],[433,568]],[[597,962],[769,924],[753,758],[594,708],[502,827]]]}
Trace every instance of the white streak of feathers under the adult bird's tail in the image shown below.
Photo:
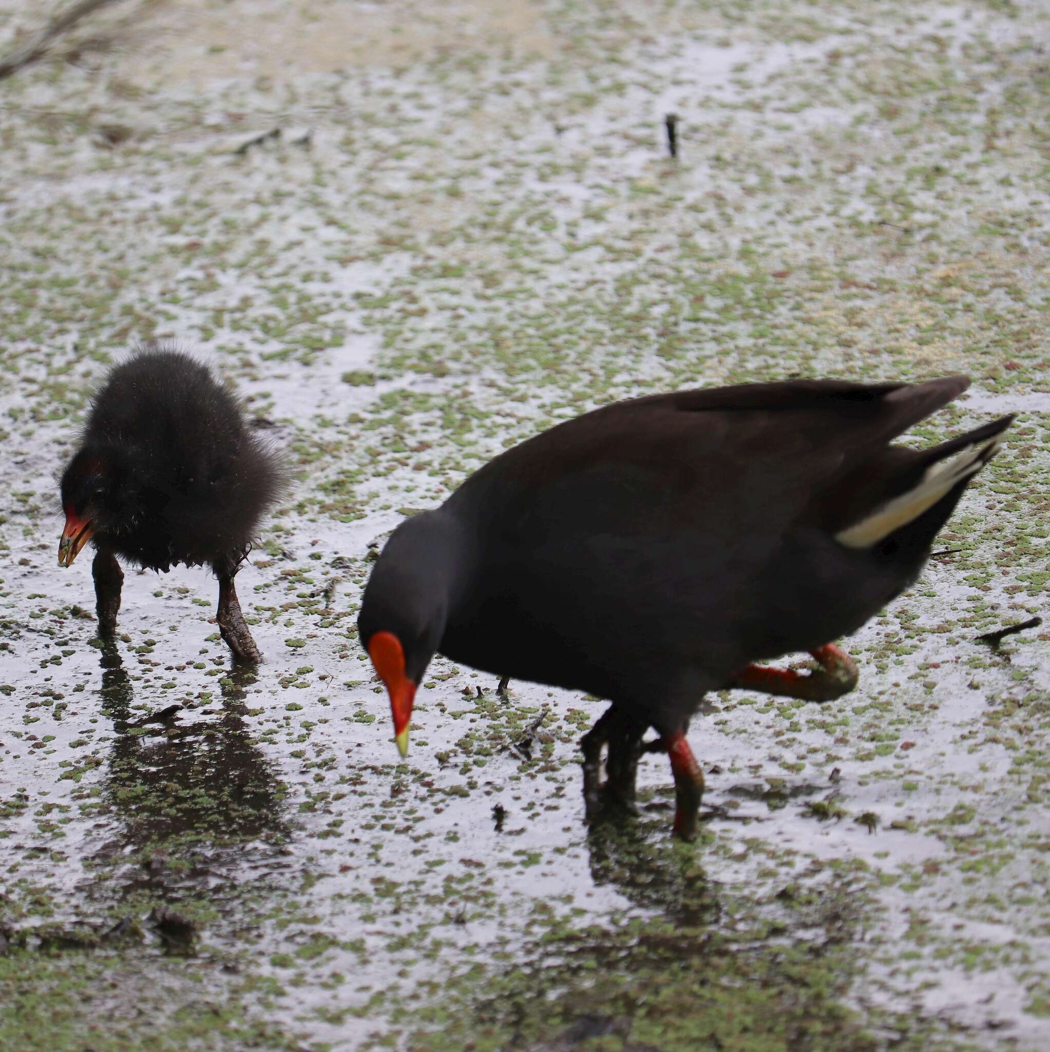
{"label": "white streak of feathers under the adult bird's tail", "polygon": [[976,474],[998,451],[1003,432],[1012,421],[1013,417],[1004,417],[929,450],[929,466],[917,483],[836,533],[835,539],[847,548],[870,548],[907,526]]}

